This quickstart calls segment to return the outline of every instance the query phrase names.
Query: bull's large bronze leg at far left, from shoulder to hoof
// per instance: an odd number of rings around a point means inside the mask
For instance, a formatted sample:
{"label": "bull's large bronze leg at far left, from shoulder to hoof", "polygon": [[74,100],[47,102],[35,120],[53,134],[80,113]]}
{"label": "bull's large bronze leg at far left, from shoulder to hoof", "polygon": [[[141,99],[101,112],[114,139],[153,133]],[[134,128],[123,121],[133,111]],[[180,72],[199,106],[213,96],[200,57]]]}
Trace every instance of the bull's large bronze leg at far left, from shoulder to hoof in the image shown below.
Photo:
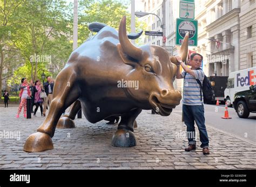
{"label": "bull's large bronze leg at far left, from shoulder to hoof", "polygon": [[75,81],[76,74],[73,73],[73,69],[66,68],[59,73],[53,88],[53,99],[48,116],[37,129],[37,132],[26,139],[23,150],[26,152],[42,152],[53,149],[51,138],[55,133],[60,116],[80,96],[79,88]]}

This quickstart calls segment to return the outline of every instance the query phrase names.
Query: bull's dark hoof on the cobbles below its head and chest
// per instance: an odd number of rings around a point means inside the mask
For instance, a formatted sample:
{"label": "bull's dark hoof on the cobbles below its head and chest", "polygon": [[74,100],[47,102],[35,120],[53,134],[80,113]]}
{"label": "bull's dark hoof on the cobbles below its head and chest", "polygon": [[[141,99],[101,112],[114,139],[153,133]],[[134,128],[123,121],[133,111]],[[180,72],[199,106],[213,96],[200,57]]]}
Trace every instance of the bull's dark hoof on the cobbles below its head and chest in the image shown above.
{"label": "bull's dark hoof on the cobbles below its head and chest", "polygon": [[136,146],[136,139],[133,132],[119,129],[114,133],[111,145],[113,147],[133,147]]}

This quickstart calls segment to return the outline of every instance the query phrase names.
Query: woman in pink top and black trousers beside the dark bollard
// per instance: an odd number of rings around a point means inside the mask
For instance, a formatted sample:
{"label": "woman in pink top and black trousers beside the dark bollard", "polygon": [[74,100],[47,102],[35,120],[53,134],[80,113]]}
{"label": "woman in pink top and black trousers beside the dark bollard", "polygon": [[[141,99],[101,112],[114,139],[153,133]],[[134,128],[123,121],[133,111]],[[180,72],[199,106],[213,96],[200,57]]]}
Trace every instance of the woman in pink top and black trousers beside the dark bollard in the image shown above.
{"label": "woman in pink top and black trousers beside the dark bollard", "polygon": [[38,107],[40,107],[41,116],[43,116],[43,98],[41,98],[40,95],[41,95],[41,92],[44,91],[44,89],[43,89],[43,85],[41,85],[41,81],[36,80],[35,87],[33,87],[33,91],[35,92],[34,103],[36,105],[36,109],[33,116],[36,117],[36,112],[38,110]]}

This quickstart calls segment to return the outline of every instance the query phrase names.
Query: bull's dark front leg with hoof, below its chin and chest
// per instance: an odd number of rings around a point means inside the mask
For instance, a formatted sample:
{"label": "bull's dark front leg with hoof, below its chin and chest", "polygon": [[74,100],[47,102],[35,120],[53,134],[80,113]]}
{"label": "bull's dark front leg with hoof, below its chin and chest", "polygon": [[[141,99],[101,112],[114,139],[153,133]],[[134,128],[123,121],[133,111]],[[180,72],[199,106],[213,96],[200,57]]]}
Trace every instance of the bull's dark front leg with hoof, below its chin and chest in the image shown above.
{"label": "bull's dark front leg with hoof, below its chin and chest", "polygon": [[114,147],[136,146],[136,139],[133,134],[134,121],[142,112],[142,109],[134,109],[121,117],[116,133],[114,133],[111,145]]}

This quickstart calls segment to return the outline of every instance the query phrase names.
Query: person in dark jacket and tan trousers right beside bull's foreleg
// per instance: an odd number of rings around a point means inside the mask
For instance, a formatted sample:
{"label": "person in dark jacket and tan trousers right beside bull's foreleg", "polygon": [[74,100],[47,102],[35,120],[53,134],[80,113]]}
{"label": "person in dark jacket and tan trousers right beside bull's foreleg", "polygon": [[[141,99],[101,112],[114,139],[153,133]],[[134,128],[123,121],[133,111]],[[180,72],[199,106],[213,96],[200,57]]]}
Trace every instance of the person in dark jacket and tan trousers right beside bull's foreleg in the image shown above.
{"label": "person in dark jacket and tan trousers right beside bull's foreleg", "polygon": [[44,83],[44,91],[47,97],[44,98],[43,116],[45,116],[48,102],[49,102],[49,108],[50,108],[51,100],[52,100],[53,85],[54,85],[54,80],[52,80],[51,76],[47,76],[46,78],[47,78],[47,82]]}

